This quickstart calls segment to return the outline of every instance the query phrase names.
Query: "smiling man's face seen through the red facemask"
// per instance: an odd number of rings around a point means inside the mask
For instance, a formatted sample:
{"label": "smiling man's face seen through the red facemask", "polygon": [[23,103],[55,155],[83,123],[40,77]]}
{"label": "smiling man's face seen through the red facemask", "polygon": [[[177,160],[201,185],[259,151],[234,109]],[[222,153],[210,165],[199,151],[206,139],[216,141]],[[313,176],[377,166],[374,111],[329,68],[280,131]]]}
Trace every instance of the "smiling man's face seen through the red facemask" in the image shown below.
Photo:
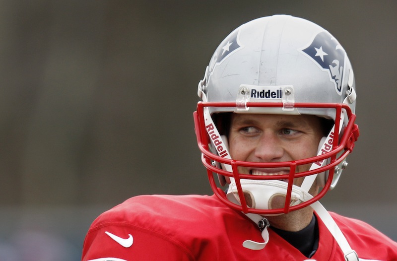
{"label": "smiling man's face seen through the red facemask", "polygon": [[[233,114],[229,132],[230,155],[235,160],[283,162],[317,155],[323,137],[320,119],[311,115]],[[297,166],[307,171],[310,164]],[[240,167],[251,175],[289,174],[289,168],[254,169]],[[295,179],[300,186],[303,178]]]}

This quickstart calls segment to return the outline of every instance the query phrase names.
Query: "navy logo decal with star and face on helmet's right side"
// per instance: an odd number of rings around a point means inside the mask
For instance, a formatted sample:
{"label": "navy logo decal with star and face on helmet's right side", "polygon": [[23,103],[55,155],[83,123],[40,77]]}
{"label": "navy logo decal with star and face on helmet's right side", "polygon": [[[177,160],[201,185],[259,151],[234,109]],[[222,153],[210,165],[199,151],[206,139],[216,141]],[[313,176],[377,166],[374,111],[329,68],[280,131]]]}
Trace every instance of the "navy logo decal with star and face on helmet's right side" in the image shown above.
{"label": "navy logo decal with star and face on helmet's right side", "polygon": [[341,95],[343,69],[346,52],[328,32],[321,32],[309,47],[302,50],[309,55],[323,70],[330,73],[336,92]]}

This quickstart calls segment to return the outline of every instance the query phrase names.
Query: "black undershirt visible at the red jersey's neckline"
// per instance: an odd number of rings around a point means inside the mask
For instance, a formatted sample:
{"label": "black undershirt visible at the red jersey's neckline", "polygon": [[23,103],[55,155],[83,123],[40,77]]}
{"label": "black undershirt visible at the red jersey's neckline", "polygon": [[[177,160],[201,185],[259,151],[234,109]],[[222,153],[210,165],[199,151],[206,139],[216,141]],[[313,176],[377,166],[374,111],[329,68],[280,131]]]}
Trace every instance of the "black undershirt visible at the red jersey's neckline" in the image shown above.
{"label": "black undershirt visible at the red jersey's neckline", "polygon": [[285,241],[298,249],[305,257],[312,257],[319,246],[319,227],[313,215],[310,224],[301,231],[291,232],[271,227]]}

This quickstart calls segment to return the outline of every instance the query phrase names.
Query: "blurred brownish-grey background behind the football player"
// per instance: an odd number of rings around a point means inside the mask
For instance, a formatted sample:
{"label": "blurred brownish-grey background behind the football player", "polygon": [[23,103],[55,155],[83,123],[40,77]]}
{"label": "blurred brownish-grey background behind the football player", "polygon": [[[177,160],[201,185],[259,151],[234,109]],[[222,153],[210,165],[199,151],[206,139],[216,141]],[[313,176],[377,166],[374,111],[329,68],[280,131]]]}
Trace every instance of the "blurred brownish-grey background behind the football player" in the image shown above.
{"label": "blurred brownish-grey background behind the football player", "polygon": [[397,240],[397,2],[0,0],[0,260],[78,261],[96,216],[140,194],[211,194],[192,114],[215,48],[286,13],[355,70],[361,135],[327,209]]}

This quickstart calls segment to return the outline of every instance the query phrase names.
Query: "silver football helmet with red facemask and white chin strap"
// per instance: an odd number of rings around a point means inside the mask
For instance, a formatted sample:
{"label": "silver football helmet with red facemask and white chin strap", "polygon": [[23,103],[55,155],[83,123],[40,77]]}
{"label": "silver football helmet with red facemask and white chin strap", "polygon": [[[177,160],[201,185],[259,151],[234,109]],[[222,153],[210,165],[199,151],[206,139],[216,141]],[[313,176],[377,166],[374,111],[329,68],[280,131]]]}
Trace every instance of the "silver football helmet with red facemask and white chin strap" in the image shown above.
{"label": "silver football helmet with red facemask and white chin strap", "polygon": [[[336,185],[359,134],[350,61],[328,31],[302,18],[274,15],[235,29],[213,54],[198,95],[202,101],[194,114],[195,127],[211,188],[223,202],[245,213],[287,213],[319,200]],[[331,125],[315,157],[245,162],[228,152],[223,116],[230,113],[315,115]],[[296,173],[296,166],[304,164],[311,164],[310,170]],[[239,173],[239,166],[290,171],[257,176]],[[301,186],[292,184],[297,177],[305,177]],[[310,195],[315,182],[323,190]],[[284,196],[283,208],[270,206],[276,194]]]}

